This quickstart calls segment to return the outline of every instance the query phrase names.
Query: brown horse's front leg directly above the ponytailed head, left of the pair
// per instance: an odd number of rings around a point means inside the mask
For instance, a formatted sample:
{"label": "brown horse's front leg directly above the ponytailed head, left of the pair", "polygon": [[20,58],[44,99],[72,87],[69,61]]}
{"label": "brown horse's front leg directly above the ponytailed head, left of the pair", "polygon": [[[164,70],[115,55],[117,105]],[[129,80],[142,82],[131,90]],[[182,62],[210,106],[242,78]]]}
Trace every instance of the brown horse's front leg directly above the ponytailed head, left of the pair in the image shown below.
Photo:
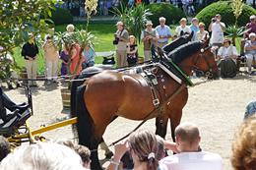
{"label": "brown horse's front leg directly above the ponytailed head, left of the pair", "polygon": [[168,117],[163,115],[163,113],[160,113],[160,115],[156,118],[156,134],[164,139],[167,132]]}

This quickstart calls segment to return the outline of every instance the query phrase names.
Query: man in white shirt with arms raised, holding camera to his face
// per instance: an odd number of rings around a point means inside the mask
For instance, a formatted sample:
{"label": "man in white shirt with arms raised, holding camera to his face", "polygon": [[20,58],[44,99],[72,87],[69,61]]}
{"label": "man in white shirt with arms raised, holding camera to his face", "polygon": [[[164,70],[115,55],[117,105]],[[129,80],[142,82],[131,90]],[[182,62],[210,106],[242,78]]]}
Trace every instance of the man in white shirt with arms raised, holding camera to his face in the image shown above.
{"label": "man in white shirt with arms raised, holding camera to his face", "polygon": [[221,22],[221,20],[222,17],[220,14],[218,14],[214,19],[212,19],[212,23],[209,26],[209,31],[212,31],[210,43],[219,47],[224,43],[225,25],[223,22]]}

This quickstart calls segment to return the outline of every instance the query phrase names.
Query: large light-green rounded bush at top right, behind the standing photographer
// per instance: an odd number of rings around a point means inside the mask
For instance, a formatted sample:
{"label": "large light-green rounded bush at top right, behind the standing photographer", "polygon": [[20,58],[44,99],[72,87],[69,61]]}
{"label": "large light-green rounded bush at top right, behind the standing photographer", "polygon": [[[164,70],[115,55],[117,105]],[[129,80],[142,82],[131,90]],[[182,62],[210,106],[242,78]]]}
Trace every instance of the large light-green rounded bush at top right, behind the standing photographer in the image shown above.
{"label": "large light-green rounded bush at top right, behind the standing photographer", "polygon": [[[204,8],[200,13],[197,14],[196,17],[199,19],[200,22],[203,22],[206,26],[209,26],[211,23],[211,19],[216,14],[221,14],[222,22],[224,22],[226,26],[234,25],[235,17],[231,9],[230,1],[219,1],[213,3]],[[249,22],[249,17],[253,14],[256,15],[256,10],[248,5],[244,5],[242,14],[238,18],[237,25],[239,27],[245,26],[246,23]]]}

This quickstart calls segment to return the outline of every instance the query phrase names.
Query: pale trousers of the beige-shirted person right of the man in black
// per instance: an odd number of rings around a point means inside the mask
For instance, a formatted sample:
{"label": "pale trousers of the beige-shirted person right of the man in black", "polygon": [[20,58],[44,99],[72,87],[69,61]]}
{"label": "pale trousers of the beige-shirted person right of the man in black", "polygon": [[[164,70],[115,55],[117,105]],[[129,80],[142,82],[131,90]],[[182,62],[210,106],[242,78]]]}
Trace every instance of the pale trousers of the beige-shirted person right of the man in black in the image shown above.
{"label": "pale trousers of the beige-shirted person right of the man in black", "polygon": [[47,80],[56,80],[58,76],[58,59],[45,60],[46,62],[46,78]]}

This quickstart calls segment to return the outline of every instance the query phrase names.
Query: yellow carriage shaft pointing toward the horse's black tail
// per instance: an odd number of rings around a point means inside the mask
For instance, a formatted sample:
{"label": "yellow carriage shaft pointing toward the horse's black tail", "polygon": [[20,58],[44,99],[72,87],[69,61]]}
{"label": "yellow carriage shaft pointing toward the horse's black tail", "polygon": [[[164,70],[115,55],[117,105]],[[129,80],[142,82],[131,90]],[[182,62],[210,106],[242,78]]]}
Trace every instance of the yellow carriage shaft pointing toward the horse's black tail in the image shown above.
{"label": "yellow carriage shaft pointing toward the horse's black tail", "polygon": [[52,130],[55,130],[55,129],[58,129],[58,128],[61,128],[61,127],[65,127],[67,125],[73,125],[73,124],[76,124],[76,123],[77,123],[77,117],[71,118],[71,119],[68,119],[68,120],[65,120],[65,121],[61,121],[61,122],[58,122],[58,123],[55,123],[55,124],[52,124],[52,125],[48,125],[46,127],[41,127],[39,129],[33,130],[33,131],[31,131],[30,126],[27,124],[27,128],[29,130],[28,133],[21,134],[21,135],[16,135],[15,137],[10,137],[8,140],[9,140],[9,142],[17,142],[17,139],[32,138],[35,135],[39,135],[41,133],[52,131]]}

